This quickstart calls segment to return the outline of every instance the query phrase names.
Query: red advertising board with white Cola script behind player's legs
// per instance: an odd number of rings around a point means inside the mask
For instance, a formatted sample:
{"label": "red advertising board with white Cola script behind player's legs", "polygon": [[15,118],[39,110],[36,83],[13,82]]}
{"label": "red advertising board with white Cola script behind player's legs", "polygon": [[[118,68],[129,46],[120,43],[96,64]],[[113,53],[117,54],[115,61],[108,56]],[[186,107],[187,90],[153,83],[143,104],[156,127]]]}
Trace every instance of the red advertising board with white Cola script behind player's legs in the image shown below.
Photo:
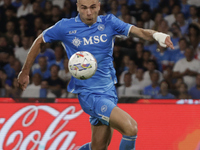
{"label": "red advertising board with white Cola script behind player's legs", "polygon": [[[119,104],[138,123],[136,150],[199,150],[200,105]],[[123,121],[123,120],[122,120]],[[1,103],[0,150],[77,150],[90,142],[78,103]],[[118,150],[114,131],[109,150]]]}

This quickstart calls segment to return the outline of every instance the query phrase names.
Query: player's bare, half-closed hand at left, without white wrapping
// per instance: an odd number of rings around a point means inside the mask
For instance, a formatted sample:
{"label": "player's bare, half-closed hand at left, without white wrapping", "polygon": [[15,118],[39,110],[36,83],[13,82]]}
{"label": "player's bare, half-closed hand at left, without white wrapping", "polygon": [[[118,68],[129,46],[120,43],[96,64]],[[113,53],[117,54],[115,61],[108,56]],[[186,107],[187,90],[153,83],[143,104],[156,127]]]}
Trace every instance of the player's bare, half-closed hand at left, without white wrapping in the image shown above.
{"label": "player's bare, half-closed hand at left, without white wrapping", "polygon": [[24,91],[26,89],[27,85],[29,84],[29,75],[20,71],[20,73],[17,77],[17,82],[18,82],[19,88]]}

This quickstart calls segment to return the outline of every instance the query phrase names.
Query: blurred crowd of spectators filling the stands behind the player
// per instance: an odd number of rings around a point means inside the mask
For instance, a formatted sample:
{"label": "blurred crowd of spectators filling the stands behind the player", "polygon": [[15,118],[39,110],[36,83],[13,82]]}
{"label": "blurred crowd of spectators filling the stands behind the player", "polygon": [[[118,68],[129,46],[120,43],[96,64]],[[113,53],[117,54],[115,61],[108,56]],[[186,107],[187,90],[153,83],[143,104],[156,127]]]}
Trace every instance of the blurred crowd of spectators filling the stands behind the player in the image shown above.
{"label": "blurred crowd of spectators filling the stands behind the player", "polygon": [[[137,37],[116,36],[113,49],[118,97],[200,98],[199,0],[100,0],[99,15],[171,36],[175,49]],[[74,98],[61,43],[45,43],[25,91],[17,75],[34,39],[62,18],[76,17],[76,0],[0,0],[0,97]]]}

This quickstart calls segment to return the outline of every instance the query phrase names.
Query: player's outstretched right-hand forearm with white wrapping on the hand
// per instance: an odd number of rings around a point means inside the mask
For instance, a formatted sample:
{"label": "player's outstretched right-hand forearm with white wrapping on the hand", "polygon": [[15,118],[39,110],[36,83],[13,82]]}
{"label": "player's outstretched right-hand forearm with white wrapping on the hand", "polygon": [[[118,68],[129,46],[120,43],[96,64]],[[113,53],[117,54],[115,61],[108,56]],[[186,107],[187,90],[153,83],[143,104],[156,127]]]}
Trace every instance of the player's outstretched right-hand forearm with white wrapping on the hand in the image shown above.
{"label": "player's outstretched right-hand forearm with white wrapping on the hand", "polygon": [[170,47],[171,49],[174,49],[170,36],[161,32],[132,26],[129,35],[137,36],[147,41],[156,40],[162,47]]}

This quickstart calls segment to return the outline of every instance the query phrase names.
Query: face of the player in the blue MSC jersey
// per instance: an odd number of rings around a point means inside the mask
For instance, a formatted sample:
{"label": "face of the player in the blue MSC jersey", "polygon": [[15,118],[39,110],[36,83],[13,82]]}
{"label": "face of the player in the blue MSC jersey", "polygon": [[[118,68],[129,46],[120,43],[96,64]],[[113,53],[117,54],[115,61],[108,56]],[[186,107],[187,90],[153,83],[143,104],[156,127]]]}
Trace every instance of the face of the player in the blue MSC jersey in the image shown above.
{"label": "face of the player in the blue MSC jersey", "polygon": [[100,2],[99,0],[78,0],[77,10],[82,22],[90,26],[97,21]]}

